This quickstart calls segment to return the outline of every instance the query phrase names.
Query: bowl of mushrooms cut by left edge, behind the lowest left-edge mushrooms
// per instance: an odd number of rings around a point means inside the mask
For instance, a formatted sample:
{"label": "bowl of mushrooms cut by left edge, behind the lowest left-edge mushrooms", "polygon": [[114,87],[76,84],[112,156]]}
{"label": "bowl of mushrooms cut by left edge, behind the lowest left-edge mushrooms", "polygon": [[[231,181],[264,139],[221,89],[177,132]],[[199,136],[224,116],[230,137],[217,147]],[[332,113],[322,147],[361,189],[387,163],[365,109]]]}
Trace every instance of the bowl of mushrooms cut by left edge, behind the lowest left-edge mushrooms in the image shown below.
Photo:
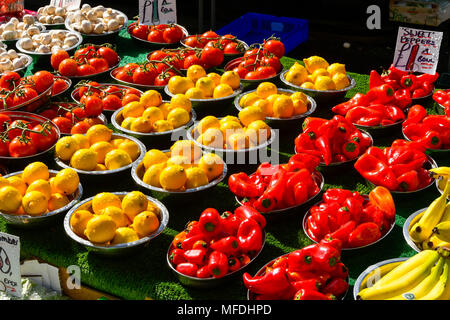
{"label": "bowl of mushrooms cut by left edge, behind the lowest left-edge mushrooms", "polygon": [[0,40],[8,48],[11,48],[20,38],[32,36],[45,30],[42,23],[36,22],[32,15],[26,14],[22,21],[13,17],[7,23],[0,24]]}

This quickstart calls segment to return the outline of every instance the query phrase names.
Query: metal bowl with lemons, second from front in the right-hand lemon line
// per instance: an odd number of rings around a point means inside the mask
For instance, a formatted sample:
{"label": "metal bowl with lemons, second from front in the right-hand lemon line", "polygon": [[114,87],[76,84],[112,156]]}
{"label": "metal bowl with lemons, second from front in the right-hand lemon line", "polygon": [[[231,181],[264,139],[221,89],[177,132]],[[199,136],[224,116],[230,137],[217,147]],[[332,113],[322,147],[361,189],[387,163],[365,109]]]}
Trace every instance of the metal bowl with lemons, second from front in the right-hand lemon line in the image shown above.
{"label": "metal bowl with lemons, second from front in the right-hand lemon line", "polygon": [[221,182],[227,165],[214,153],[202,152],[193,141],[178,140],[168,150],[151,149],[136,162],[131,176],[156,196],[192,199]]}

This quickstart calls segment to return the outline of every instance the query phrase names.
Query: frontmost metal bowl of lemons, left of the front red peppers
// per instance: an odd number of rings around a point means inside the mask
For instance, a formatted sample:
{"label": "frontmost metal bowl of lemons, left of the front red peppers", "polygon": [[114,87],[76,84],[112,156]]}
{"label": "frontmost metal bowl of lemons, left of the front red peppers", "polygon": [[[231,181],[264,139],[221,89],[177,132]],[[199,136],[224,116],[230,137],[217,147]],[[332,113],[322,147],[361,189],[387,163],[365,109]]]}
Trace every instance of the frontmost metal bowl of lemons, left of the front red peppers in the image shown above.
{"label": "frontmost metal bowl of lemons, left of the front red peppers", "polygon": [[101,192],[66,214],[64,230],[88,251],[118,256],[147,246],[168,222],[167,208],[140,191]]}

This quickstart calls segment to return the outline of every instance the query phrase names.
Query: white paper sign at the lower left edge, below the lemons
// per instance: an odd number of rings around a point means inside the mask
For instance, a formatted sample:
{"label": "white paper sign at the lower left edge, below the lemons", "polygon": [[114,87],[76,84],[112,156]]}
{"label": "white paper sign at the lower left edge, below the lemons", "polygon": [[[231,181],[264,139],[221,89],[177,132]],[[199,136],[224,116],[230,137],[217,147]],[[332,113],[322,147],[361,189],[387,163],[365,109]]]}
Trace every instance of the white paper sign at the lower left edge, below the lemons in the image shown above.
{"label": "white paper sign at the lower left edge, below the lemons", "polygon": [[0,291],[22,296],[20,239],[0,232]]}

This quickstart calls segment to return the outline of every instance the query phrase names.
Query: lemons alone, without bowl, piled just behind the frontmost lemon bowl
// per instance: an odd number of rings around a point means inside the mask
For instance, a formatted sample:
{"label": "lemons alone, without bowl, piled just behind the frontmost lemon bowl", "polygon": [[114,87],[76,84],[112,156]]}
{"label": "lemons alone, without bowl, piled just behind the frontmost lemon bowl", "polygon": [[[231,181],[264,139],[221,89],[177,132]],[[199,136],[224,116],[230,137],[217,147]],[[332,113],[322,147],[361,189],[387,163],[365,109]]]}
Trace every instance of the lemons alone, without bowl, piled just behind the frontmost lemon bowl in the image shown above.
{"label": "lemons alone, without bowl, piled just behind the frontmost lemon bowl", "polygon": [[169,152],[147,151],[142,161],[142,181],[170,191],[185,191],[207,185],[223,173],[224,162],[213,153],[202,154],[194,141],[178,140]]}

